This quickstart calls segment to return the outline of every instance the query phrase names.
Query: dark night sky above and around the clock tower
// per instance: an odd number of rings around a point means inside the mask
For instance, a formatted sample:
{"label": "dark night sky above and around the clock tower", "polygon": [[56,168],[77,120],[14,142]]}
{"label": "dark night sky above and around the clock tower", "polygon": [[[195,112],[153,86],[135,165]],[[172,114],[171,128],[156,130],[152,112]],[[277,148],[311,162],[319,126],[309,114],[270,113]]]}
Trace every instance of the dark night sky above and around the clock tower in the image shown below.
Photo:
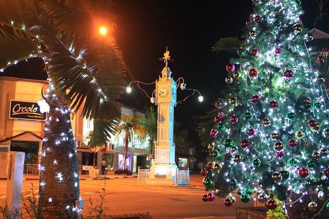
{"label": "dark night sky above and around the clock tower", "polygon": [[[303,0],[305,11],[302,20],[309,29],[316,17],[315,0]],[[328,7],[327,7],[328,8]],[[118,16],[118,28],[113,32],[123,52],[130,76],[146,83],[158,78],[166,46],[174,59],[169,64],[174,76],[182,76],[187,88],[196,88],[205,98],[200,104],[197,95],[177,106],[178,120],[186,121],[202,115],[212,108],[225,85],[225,66],[232,57],[230,53],[212,53],[211,47],[222,37],[239,37],[245,21],[252,13],[251,0],[230,1],[186,1],[186,0],[117,0],[114,13]],[[317,28],[329,32],[329,19],[321,20]],[[45,78],[41,63],[24,62],[11,67],[3,75],[25,78]],[[149,104],[137,87],[130,94],[124,94],[122,101],[137,108]],[[152,88],[147,89],[149,93]],[[177,99],[189,95],[178,90]],[[177,116],[178,115],[178,116]]]}

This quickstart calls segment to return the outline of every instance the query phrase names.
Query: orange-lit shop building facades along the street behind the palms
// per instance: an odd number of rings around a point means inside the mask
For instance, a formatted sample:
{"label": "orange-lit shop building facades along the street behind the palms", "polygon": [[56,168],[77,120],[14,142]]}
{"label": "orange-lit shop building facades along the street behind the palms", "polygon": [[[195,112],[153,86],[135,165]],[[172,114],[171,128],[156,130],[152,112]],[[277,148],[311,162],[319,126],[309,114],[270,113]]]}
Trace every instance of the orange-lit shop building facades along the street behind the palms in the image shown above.
{"label": "orange-lit shop building facades along the street behind the palms", "polygon": [[[25,164],[37,164],[44,136],[46,112],[42,109],[42,90],[48,89],[47,81],[0,76],[0,151],[25,152]],[[136,109],[121,106],[126,116],[142,116]],[[79,165],[94,164],[100,168],[103,158],[108,169],[122,169],[124,148],[123,136],[114,136],[102,148],[87,147],[87,137],[93,130],[93,121],[71,115],[71,125],[76,139]],[[149,150],[147,142],[141,143],[137,136],[129,145],[127,169],[136,172],[138,166],[147,167]],[[95,157],[95,159],[94,159]]]}

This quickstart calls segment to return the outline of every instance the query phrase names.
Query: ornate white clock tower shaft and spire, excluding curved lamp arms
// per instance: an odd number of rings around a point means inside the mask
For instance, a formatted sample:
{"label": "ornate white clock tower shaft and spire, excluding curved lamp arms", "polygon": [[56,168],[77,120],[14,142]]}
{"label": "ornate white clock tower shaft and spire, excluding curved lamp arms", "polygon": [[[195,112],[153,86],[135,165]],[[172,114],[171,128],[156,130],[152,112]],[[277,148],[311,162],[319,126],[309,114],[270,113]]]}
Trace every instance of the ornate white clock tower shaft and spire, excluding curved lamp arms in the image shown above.
{"label": "ornate white clock tower shaft and spire, excluding curved lamp arms", "polygon": [[[168,67],[169,51],[166,51],[166,66],[162,69],[156,81],[155,104],[158,106],[157,143],[155,146],[154,164],[151,166],[151,176],[167,175],[167,180],[175,180],[177,166],[175,163],[174,145],[174,107],[176,105],[177,84],[171,77]],[[171,176],[168,177],[168,176]]]}

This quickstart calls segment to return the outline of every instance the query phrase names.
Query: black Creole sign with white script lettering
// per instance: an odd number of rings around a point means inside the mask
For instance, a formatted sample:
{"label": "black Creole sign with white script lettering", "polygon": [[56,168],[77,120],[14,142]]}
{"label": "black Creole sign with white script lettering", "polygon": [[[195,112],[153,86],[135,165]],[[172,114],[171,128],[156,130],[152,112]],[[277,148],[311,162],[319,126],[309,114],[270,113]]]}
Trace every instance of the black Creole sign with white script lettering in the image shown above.
{"label": "black Creole sign with white script lettering", "polygon": [[21,120],[46,120],[47,112],[41,112],[40,106],[35,102],[10,101],[9,118]]}

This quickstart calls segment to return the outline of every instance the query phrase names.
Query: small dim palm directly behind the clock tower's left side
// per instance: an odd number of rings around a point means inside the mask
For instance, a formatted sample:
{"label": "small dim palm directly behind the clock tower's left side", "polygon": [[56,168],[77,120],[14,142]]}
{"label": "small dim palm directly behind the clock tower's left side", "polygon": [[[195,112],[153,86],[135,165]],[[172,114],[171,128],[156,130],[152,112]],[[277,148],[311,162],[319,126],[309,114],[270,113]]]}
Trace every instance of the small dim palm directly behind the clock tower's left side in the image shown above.
{"label": "small dim palm directly behind the clock tower's left side", "polygon": [[145,132],[142,142],[149,141],[150,154],[154,155],[154,144],[157,138],[157,114],[152,106],[147,110],[145,116],[141,117],[141,126]]}

